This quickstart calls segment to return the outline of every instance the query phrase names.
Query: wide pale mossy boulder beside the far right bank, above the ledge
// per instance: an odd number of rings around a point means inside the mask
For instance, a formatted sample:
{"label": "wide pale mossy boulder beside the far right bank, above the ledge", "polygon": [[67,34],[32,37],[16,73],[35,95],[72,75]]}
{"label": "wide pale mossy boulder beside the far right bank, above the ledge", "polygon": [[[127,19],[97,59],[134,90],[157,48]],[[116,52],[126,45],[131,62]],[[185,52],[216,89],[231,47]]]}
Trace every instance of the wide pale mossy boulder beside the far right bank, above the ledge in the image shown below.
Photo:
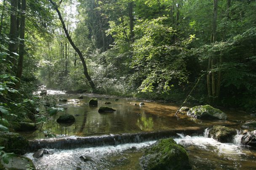
{"label": "wide pale mossy boulder beside the far right bank, above the ledge", "polygon": [[197,119],[227,119],[227,115],[224,112],[210,105],[192,107],[187,112],[187,115]]}

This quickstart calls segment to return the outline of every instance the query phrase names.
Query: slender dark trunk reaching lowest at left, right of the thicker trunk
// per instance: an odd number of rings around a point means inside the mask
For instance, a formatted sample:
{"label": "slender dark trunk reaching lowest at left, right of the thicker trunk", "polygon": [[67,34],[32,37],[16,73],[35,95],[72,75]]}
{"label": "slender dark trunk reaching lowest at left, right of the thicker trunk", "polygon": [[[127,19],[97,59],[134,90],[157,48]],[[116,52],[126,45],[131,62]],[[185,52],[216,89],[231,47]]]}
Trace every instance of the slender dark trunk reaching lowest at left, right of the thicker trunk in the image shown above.
{"label": "slender dark trunk reaching lowest at left, right of the thicker trunk", "polygon": [[20,44],[19,44],[19,61],[17,67],[16,77],[19,81],[16,83],[16,88],[19,89],[21,85],[21,76],[23,71],[23,60],[24,60],[24,39],[25,39],[25,15],[26,15],[26,0],[21,0],[21,18],[20,18]]}

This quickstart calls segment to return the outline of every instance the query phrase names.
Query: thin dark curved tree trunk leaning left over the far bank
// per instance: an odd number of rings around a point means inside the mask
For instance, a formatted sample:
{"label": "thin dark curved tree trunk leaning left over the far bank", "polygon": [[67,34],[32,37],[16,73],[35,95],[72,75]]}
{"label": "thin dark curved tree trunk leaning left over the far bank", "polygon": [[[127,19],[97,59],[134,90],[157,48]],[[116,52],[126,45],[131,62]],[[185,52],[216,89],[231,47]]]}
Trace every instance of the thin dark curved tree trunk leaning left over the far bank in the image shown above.
{"label": "thin dark curved tree trunk leaning left over the far bank", "polygon": [[56,3],[54,3],[52,0],[49,0],[49,1],[50,1],[50,3],[53,5],[53,7],[54,7],[54,9],[56,10],[56,12],[58,13],[58,15],[59,15],[59,20],[61,21],[61,24],[62,24],[63,29],[64,29],[64,31],[65,31],[65,34],[66,34],[66,36],[67,36],[67,39],[69,40],[70,44],[72,45],[72,47],[74,48],[74,50],[77,52],[77,54],[78,54],[80,60],[82,61],[82,63],[83,63],[84,75],[85,75],[86,79],[89,81],[89,84],[91,85],[91,88],[94,90],[94,89],[95,89],[95,85],[94,85],[93,81],[91,80],[91,77],[90,77],[89,74],[88,74],[87,66],[86,66],[86,63],[85,63],[85,59],[83,58],[82,52],[77,48],[77,46],[74,44],[74,42],[72,41],[71,37],[69,36],[69,33],[68,33],[67,29],[66,29],[66,25],[65,25],[65,23],[64,23],[64,21],[63,21],[63,18],[62,18],[61,13],[60,13],[60,11],[59,11],[59,9],[58,9],[58,6],[57,6]]}

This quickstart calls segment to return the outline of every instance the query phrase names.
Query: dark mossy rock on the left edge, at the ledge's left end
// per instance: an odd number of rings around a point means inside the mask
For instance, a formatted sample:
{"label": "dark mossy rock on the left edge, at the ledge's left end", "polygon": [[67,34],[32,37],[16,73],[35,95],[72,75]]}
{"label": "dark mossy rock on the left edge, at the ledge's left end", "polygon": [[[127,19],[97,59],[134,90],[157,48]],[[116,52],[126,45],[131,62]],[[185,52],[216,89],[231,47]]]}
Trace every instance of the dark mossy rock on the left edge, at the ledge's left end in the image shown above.
{"label": "dark mossy rock on the left edge, at the ledge's left end", "polygon": [[5,147],[5,152],[23,155],[27,151],[28,141],[19,133],[0,132],[0,146]]}

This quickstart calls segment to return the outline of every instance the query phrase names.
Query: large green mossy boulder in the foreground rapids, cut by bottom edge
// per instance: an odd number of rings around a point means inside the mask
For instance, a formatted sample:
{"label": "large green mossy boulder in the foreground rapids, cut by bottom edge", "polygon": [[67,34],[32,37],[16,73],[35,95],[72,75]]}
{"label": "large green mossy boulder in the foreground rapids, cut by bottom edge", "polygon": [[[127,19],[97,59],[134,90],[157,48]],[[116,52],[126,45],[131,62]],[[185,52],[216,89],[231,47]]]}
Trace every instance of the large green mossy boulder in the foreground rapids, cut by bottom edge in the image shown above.
{"label": "large green mossy boulder in the foreground rapids, cut by bottom edge", "polygon": [[173,139],[161,139],[144,151],[140,159],[144,170],[189,170],[189,157]]}

